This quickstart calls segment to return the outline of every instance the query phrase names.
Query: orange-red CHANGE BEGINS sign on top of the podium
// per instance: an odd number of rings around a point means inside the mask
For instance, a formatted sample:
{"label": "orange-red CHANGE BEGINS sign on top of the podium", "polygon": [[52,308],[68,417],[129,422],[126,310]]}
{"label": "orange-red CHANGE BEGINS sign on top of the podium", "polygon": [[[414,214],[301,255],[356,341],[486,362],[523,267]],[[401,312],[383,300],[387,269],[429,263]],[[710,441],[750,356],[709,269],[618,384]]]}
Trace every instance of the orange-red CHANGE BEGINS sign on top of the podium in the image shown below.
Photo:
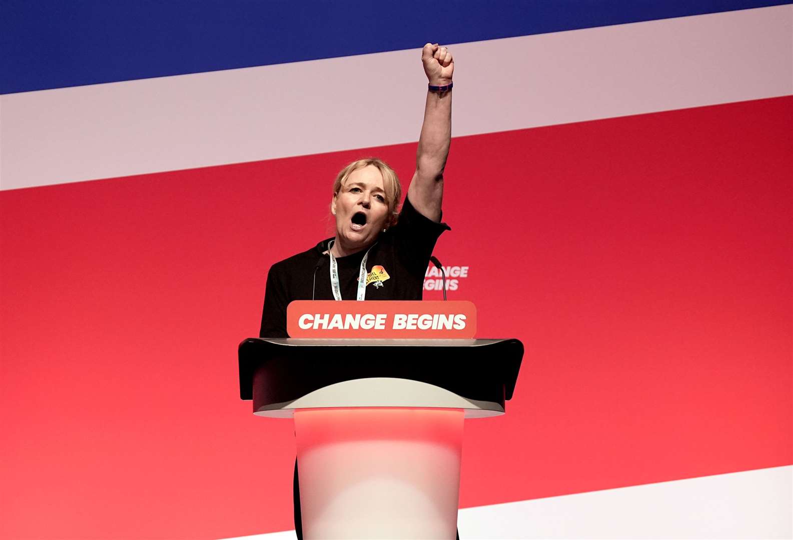
{"label": "orange-red CHANGE BEGINS sign on top of the podium", "polygon": [[472,339],[469,301],[296,300],[286,308],[290,338]]}

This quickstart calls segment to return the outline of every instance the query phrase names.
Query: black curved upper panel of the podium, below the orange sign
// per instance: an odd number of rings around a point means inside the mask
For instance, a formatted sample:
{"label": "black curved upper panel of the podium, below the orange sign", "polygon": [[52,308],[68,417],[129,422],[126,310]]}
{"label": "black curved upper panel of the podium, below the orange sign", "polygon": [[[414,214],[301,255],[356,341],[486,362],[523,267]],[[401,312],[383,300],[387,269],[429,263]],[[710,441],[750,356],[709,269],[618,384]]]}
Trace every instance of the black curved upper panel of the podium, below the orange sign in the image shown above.
{"label": "black curved upper panel of the podium, below the orange sign", "polygon": [[254,410],[338,382],[395,377],[504,406],[515,391],[523,343],[517,339],[394,344],[365,340],[250,338],[239,344],[239,397]]}

